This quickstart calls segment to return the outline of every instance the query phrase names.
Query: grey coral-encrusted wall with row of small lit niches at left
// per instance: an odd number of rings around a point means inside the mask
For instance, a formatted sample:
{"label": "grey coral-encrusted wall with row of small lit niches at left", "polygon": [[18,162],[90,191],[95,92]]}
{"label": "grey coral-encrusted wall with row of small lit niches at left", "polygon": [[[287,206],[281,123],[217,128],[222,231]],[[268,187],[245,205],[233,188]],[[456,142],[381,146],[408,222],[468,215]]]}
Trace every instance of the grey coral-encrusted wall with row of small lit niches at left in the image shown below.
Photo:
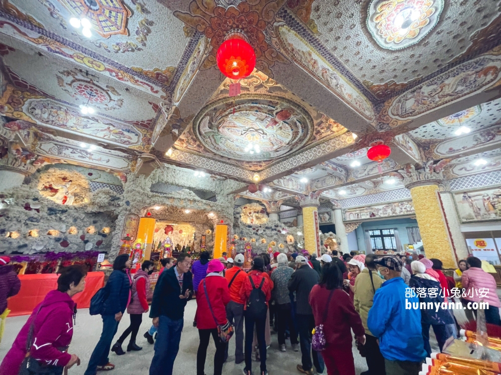
{"label": "grey coral-encrusted wall with row of small lit niches at left", "polygon": [[[71,199],[66,204],[53,200],[57,189],[51,192],[48,185],[58,175],[73,178],[70,189],[79,194],[74,205],[67,204]],[[42,192],[40,182],[47,186]],[[121,197],[108,188],[91,192],[86,182],[84,174],[56,164],[35,172],[29,184],[0,194],[0,252],[109,251]]]}

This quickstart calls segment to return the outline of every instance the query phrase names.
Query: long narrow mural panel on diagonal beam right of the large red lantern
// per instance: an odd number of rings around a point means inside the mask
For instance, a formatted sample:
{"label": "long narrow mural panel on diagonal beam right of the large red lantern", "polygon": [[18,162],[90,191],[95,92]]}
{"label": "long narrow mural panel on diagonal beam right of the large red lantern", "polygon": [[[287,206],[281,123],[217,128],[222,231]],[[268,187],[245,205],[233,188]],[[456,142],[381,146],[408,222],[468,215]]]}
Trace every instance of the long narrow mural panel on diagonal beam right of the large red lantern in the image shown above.
{"label": "long narrow mural panel on diagonal beam right of the large red lantern", "polygon": [[367,120],[374,119],[374,109],[367,98],[344,78],[315,49],[308,45],[295,31],[285,24],[275,26],[275,33],[280,39],[278,45],[284,53],[303,70],[319,80],[330,91]]}

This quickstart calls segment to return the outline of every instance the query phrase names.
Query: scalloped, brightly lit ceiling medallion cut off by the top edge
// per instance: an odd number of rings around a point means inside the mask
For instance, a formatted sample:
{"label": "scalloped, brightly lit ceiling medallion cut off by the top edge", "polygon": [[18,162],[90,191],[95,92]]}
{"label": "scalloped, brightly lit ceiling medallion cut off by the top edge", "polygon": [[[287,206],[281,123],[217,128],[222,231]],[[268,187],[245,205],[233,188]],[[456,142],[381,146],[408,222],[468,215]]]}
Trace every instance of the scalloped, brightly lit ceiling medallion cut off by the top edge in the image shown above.
{"label": "scalloped, brightly lit ceiling medallion cut off by the top edge", "polygon": [[435,27],[443,5],[444,0],[371,0],[367,28],[381,47],[402,49]]}

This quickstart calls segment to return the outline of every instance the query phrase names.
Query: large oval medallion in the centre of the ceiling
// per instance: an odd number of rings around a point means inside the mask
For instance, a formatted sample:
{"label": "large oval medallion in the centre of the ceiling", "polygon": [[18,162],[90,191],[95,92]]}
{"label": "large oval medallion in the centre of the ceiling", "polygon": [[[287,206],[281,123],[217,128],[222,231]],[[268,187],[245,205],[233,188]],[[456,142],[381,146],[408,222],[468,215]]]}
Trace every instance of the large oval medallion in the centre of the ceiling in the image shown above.
{"label": "large oval medallion in the centre of the ceiling", "polygon": [[270,160],[301,148],[313,120],[300,104],[268,94],[240,94],[209,103],[193,120],[197,139],[221,156]]}

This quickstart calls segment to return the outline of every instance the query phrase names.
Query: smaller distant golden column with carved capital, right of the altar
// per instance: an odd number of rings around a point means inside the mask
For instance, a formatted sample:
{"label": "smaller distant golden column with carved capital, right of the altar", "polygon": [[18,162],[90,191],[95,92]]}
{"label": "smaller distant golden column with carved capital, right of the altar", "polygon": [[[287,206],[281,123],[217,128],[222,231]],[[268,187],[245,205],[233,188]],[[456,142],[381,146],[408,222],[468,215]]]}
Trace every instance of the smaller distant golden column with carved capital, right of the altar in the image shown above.
{"label": "smaller distant golden column with carved capital, right of the altar", "polygon": [[310,193],[308,196],[301,195],[299,199],[299,204],[303,209],[303,234],[305,236],[305,249],[310,252],[310,254],[317,254],[321,256],[320,253],[320,235],[318,227],[318,200],[317,193]]}

